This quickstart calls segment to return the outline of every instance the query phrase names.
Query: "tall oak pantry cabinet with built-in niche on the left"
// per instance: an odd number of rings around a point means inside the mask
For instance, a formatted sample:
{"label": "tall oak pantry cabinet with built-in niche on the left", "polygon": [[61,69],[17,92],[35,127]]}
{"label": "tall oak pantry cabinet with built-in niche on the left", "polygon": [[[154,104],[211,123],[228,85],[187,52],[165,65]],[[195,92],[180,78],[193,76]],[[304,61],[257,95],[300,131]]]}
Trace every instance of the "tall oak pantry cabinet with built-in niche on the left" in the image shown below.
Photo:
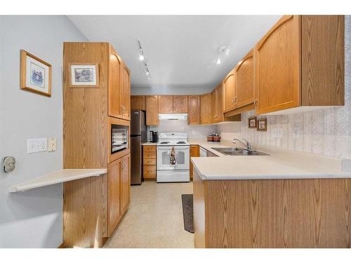
{"label": "tall oak pantry cabinet with built-in niche on the left", "polygon": [[[72,86],[72,65],[96,65],[95,87]],[[63,46],[63,168],[107,174],[63,184],[63,245],[101,247],[130,200],[130,150],[111,153],[112,124],[130,126],[130,72],[110,43]]]}

